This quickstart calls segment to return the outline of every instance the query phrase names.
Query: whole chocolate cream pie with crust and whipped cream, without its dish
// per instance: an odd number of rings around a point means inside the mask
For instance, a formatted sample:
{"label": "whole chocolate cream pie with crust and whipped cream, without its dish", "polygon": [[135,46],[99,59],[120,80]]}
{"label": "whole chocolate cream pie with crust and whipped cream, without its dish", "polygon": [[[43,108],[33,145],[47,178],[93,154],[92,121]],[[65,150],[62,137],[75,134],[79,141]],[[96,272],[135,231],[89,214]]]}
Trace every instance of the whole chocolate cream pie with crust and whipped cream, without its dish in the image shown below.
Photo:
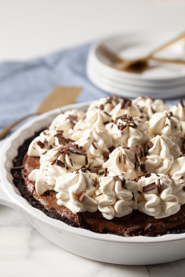
{"label": "whole chocolate cream pie with crust and whipped cream, without its dish", "polygon": [[[41,131],[40,131],[41,132]],[[126,237],[185,232],[185,107],[100,98],[24,142],[14,184],[74,227]]]}

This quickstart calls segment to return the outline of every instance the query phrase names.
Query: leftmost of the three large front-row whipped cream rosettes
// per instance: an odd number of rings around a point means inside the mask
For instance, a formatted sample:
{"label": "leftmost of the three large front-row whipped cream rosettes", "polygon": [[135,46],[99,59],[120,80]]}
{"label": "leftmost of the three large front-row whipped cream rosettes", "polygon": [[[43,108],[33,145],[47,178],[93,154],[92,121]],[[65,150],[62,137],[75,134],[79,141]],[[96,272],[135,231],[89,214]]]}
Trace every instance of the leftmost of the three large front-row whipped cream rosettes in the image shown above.
{"label": "leftmost of the three large front-row whipped cream rosettes", "polygon": [[96,212],[98,202],[93,199],[98,176],[88,170],[69,172],[56,179],[57,204],[66,206],[74,214],[77,212]]}

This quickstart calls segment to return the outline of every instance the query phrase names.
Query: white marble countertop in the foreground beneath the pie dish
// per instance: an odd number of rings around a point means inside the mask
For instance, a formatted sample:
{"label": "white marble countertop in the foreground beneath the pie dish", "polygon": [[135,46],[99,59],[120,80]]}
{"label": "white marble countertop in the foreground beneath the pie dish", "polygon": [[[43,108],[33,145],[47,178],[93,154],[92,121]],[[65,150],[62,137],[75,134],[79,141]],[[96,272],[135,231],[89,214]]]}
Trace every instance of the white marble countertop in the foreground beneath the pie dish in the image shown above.
{"label": "white marble countertop in the foreground beneath the pie dish", "polygon": [[[0,147],[2,143],[0,142]],[[185,259],[148,266],[115,265],[67,252],[40,235],[22,212],[0,205],[0,276],[184,277]]]}

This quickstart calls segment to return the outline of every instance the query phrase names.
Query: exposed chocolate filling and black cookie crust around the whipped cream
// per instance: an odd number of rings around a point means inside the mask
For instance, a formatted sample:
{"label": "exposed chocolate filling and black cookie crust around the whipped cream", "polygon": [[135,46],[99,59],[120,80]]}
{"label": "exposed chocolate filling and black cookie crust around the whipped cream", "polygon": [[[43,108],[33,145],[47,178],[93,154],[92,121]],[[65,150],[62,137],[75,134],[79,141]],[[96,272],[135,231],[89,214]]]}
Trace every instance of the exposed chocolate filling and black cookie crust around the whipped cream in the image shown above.
{"label": "exposed chocolate filling and black cookie crust around the whipped cream", "polygon": [[[40,132],[34,137],[39,134]],[[107,220],[102,216],[100,211],[93,213],[84,212],[83,215],[73,214],[67,207],[61,207],[57,204],[55,191],[46,191],[43,195],[37,194],[35,183],[29,181],[28,175],[33,169],[39,168],[39,158],[29,157],[26,154],[28,146],[34,137],[27,139],[19,147],[18,155],[13,160],[14,168],[12,168],[11,173],[14,176],[13,182],[21,195],[33,207],[43,211],[47,216],[61,220],[73,227],[126,237],[133,235],[157,236],[185,232],[185,205],[182,205],[180,211],[176,214],[163,219],[154,219],[152,216],[148,216],[138,210],[133,210],[127,216],[114,217],[112,220]],[[94,180],[94,183],[96,185],[96,180]],[[124,186],[124,181],[122,186]]]}

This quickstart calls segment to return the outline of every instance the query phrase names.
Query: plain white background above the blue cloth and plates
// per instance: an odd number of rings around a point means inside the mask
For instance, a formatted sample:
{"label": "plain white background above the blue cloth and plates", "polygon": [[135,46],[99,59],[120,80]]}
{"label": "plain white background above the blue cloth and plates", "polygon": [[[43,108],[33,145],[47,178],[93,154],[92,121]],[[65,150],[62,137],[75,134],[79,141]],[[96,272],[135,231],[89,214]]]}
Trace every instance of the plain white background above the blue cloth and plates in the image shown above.
{"label": "plain white background above the blue cloth and plates", "polygon": [[185,30],[184,0],[0,0],[0,62],[130,29]]}

